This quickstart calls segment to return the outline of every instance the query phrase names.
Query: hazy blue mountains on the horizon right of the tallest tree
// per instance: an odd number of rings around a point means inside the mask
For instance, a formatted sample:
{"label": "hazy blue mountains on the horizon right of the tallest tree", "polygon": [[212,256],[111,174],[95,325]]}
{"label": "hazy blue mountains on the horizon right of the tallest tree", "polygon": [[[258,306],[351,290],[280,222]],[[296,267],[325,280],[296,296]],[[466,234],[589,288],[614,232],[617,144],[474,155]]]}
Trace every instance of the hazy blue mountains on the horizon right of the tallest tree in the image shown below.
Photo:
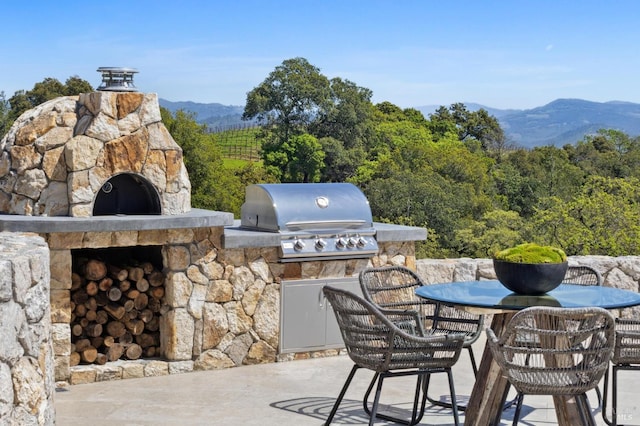
{"label": "hazy blue mountains on the horizon right of the tallest tree", "polygon": [[[616,129],[629,136],[640,135],[640,104],[557,99],[526,110],[500,110],[466,103],[471,111],[484,108],[498,119],[510,141],[524,147],[574,144],[599,129]],[[425,117],[438,107],[417,107]]]}

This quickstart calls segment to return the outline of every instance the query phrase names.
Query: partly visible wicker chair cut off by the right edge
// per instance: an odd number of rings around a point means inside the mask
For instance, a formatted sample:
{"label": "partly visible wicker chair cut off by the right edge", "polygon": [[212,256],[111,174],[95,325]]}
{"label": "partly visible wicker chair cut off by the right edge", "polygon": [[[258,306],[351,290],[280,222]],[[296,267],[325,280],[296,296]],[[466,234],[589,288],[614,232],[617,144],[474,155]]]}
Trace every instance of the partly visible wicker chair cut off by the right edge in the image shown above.
{"label": "partly visible wicker chair cut off by the right edge", "polygon": [[611,384],[611,418],[607,416],[607,389],[609,370],[604,375],[602,418],[608,425],[618,424],[618,371],[640,370],[640,320],[616,319],[616,344],[611,358],[613,380]]}

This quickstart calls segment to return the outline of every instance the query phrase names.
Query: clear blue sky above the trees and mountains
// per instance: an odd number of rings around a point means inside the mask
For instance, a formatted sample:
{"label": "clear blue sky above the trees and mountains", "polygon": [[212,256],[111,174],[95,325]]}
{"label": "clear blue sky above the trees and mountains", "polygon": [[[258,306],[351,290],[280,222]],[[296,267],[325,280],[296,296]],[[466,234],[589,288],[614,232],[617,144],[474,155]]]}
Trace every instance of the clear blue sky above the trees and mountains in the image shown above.
{"label": "clear blue sky above the trees and mountains", "polygon": [[2,5],[0,91],[98,67],[170,101],[244,105],[306,58],[400,107],[558,98],[640,103],[640,1],[66,0]]}

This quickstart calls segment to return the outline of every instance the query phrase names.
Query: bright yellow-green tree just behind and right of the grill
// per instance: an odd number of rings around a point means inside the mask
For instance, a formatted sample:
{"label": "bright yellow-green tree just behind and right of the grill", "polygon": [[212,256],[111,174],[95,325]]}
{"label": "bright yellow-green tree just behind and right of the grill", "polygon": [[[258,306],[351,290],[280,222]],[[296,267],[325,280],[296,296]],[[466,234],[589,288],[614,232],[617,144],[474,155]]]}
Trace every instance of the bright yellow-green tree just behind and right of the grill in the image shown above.
{"label": "bright yellow-green tree just behind and right of the grill", "polygon": [[358,169],[353,182],[369,198],[374,217],[383,222],[435,230],[440,249],[456,253],[455,231],[480,218],[493,205],[486,195],[492,161],[472,153],[455,139],[431,141],[427,128],[413,122],[382,123],[376,156]]}

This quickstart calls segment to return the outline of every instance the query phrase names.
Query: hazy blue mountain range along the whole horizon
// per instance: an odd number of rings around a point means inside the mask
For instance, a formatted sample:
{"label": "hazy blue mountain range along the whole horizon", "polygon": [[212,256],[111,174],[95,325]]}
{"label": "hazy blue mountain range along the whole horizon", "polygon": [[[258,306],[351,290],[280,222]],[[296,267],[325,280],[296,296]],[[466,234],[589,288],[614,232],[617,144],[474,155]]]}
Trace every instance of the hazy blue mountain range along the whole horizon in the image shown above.
{"label": "hazy blue mountain range along the whole horizon", "polygon": [[[180,109],[193,113],[197,122],[210,128],[247,124],[241,119],[244,106],[159,101],[160,106],[172,113]],[[498,120],[510,143],[525,148],[575,144],[599,129],[620,130],[631,137],[640,135],[640,104],[631,102],[557,99],[532,109],[497,109],[476,103],[464,104],[469,111],[485,109]],[[428,118],[439,105],[414,108]]]}

